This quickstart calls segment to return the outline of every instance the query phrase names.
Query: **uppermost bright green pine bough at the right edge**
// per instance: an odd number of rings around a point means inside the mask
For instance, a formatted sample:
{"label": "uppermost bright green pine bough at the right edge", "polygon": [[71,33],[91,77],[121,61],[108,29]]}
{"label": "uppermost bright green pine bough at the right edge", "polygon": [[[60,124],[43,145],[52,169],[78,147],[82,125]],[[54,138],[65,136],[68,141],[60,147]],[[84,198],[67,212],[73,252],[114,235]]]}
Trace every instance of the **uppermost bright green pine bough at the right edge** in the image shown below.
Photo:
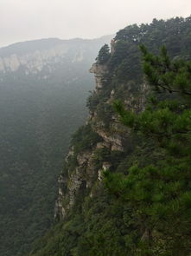
{"label": "uppermost bright green pine bough at the right edge", "polygon": [[141,45],[140,49],[143,52],[144,74],[157,91],[166,90],[169,93],[191,95],[191,62],[184,62],[181,59],[170,61],[164,46],[161,48],[160,56],[151,55],[144,45]]}

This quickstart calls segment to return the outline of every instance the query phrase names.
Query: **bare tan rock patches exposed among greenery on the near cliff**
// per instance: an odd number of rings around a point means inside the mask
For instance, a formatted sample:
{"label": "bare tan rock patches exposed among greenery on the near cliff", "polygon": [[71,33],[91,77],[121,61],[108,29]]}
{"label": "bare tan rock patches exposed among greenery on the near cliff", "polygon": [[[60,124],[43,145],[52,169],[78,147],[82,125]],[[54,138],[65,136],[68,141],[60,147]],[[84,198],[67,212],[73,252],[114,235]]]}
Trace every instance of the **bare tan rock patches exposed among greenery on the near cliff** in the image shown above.
{"label": "bare tan rock patches exposed among greenery on the near cliff", "polygon": [[[115,42],[113,42],[113,44],[114,43]],[[112,47],[113,52],[114,45]],[[94,63],[90,72],[95,75],[96,93],[99,94],[99,92],[104,89],[103,79],[105,79],[105,74],[107,74],[108,68],[106,65]],[[144,108],[146,89],[146,86],[143,85],[141,89],[141,91],[143,90],[143,95],[133,95],[133,93],[131,93],[130,84],[130,93],[124,101],[126,108],[131,109],[136,113],[142,111]],[[126,89],[126,93],[128,93],[128,89]],[[114,96],[115,89],[111,89],[110,96],[105,103],[111,104],[114,100]],[[100,162],[98,166],[95,164],[95,157],[97,155],[95,150],[98,150],[99,148],[108,148],[111,151],[124,151],[124,146],[125,143],[127,143],[129,136],[128,130],[118,121],[118,115],[111,115],[110,120],[109,128],[105,128],[105,122],[99,119],[99,115],[95,110],[92,111],[89,120],[86,122],[86,124],[92,126],[92,130],[97,133],[103,141],[98,142],[96,146],[90,150],[77,154],[78,167],[75,167],[72,171],[68,171],[67,194],[63,191],[64,181],[60,179],[59,196],[56,201],[56,213],[59,216],[62,216],[61,218],[64,218],[67,210],[73,207],[75,200],[77,200],[79,194],[83,190],[86,190],[86,192],[88,191],[89,196],[92,197],[94,194],[92,188],[93,185],[96,181],[99,181],[98,184],[101,186],[103,171],[111,168],[111,163],[108,161],[103,161],[101,168]],[[70,149],[69,154],[67,155],[67,160],[71,155],[73,155],[73,148]],[[61,201],[67,201],[67,204],[63,207]]]}

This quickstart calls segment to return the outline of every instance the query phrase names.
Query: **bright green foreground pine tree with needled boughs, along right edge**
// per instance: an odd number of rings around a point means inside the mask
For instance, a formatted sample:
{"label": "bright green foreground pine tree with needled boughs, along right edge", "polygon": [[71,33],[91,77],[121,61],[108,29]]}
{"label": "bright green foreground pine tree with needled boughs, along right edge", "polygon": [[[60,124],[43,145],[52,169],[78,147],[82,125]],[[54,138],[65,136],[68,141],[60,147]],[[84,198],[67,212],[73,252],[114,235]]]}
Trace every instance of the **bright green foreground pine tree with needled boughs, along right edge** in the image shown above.
{"label": "bright green foreground pine tree with needled boughs, along right edge", "polygon": [[[190,255],[191,236],[191,62],[170,60],[167,50],[154,56],[142,45],[143,71],[155,97],[140,114],[115,102],[120,120],[162,158],[128,174],[105,173],[105,185],[132,209],[139,239],[132,255]],[[162,99],[162,100],[161,100]],[[148,138],[148,139],[147,139]],[[150,158],[153,157],[150,152]]]}

